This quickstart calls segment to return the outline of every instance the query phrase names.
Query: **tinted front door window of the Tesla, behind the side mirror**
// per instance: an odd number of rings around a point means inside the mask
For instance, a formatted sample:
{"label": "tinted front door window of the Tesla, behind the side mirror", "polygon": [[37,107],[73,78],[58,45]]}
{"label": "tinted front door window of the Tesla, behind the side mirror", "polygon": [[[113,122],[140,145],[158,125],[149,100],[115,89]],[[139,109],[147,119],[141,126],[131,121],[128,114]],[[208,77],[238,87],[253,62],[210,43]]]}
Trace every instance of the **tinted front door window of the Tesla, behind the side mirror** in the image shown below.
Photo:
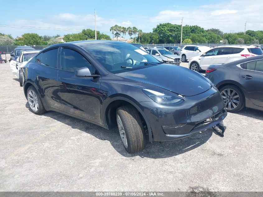
{"label": "tinted front door window of the Tesla, behind the side mirror", "polygon": [[95,68],[78,52],[71,49],[61,49],[61,69],[75,72],[78,68],[87,67],[92,74]]}

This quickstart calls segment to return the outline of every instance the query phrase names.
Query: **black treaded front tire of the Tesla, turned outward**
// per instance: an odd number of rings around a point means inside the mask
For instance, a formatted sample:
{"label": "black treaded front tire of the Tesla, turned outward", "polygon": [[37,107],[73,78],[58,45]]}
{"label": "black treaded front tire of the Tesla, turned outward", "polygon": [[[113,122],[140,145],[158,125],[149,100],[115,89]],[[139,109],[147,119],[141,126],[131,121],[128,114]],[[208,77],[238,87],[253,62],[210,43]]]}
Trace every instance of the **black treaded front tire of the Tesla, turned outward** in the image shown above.
{"label": "black treaded front tire of the Tesla, turned outward", "polygon": [[132,105],[121,106],[116,110],[122,121],[125,135],[127,138],[127,148],[124,148],[129,153],[139,152],[146,145],[145,131],[139,112]]}

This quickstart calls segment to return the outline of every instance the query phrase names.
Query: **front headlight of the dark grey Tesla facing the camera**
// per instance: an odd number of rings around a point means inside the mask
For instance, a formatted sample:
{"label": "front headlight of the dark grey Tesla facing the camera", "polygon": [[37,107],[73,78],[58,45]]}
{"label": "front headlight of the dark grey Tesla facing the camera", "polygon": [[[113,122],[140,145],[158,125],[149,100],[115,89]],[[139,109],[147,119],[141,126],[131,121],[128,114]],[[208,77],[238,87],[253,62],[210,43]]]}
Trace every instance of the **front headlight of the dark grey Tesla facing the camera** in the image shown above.
{"label": "front headlight of the dark grey Tesla facing the camera", "polygon": [[[163,94],[161,92],[143,89],[143,92],[149,96],[153,101],[159,103],[159,104],[179,104],[183,102],[183,97],[180,95],[178,96],[171,96],[167,94]],[[181,98],[180,98],[181,97]]]}

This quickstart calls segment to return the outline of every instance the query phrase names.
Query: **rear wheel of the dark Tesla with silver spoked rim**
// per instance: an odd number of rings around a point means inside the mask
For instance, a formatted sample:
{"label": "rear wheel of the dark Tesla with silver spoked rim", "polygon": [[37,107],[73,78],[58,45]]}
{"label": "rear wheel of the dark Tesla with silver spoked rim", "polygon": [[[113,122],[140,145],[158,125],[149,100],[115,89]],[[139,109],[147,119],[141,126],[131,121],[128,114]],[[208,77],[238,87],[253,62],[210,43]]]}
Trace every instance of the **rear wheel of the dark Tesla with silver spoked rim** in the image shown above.
{"label": "rear wheel of the dark Tesla with silver spoked rim", "polygon": [[30,86],[27,89],[26,95],[27,95],[27,101],[28,101],[29,107],[34,114],[45,113],[46,110],[44,108],[44,105],[34,86]]}

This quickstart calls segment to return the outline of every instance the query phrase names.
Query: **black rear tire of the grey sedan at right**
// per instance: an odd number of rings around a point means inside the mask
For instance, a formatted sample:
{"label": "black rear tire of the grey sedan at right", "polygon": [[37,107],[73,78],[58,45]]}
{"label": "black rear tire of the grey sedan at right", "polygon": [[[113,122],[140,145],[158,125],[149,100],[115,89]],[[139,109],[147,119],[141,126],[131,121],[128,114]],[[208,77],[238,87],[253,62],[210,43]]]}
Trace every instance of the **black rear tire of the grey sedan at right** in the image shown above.
{"label": "black rear tire of the grey sedan at right", "polygon": [[[238,112],[238,111],[242,110],[242,109],[245,107],[245,97],[244,97],[243,92],[242,92],[237,86],[227,85],[227,86],[224,86],[224,87],[221,87],[221,88],[220,88],[219,92],[220,92],[221,96],[222,96],[222,95],[223,95],[223,96],[226,96],[225,93],[223,93],[223,91],[227,92],[228,89],[232,89],[232,90],[236,91],[237,94],[234,94],[234,95],[238,95],[239,98],[238,98],[238,99],[235,98],[235,100],[236,100],[236,101],[239,101],[239,104],[237,105],[236,108],[234,108],[234,109],[229,109],[229,107],[228,107],[228,103],[229,103],[229,102],[227,102],[227,106],[226,106],[226,107],[227,107],[227,111],[234,113],[234,112]],[[231,91],[231,93],[232,93],[232,91]],[[234,95],[233,95],[233,96],[234,96]],[[223,98],[223,96],[222,96],[222,98]],[[224,99],[224,98],[223,98],[223,100],[226,101],[226,99]],[[226,104],[226,102],[225,102],[225,104]],[[236,104],[236,102],[234,102],[234,104]],[[230,104],[230,108],[231,108],[231,105],[232,105],[232,104]],[[232,106],[233,106],[233,105],[232,105]]]}

